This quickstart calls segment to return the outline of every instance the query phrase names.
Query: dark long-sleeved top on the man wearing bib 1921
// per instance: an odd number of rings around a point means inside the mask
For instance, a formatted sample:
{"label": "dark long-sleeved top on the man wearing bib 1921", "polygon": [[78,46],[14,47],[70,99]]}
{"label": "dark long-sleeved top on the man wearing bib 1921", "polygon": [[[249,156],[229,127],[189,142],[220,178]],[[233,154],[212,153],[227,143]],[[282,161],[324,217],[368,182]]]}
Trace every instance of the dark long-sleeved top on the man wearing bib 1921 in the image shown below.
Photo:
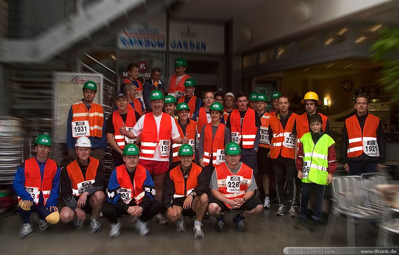
{"label": "dark long-sleeved top on the man wearing bib 1921", "polygon": [[[366,118],[369,115],[369,113],[359,116],[356,114],[356,117],[358,118],[360,128],[362,129],[365,126],[366,123]],[[366,155],[364,152],[362,155],[358,157],[352,157],[348,159],[348,147],[349,147],[349,137],[348,137],[348,129],[346,128],[346,124],[344,124],[344,129],[342,131],[342,140],[341,140],[341,152],[340,152],[340,162],[342,164],[348,163],[348,160],[350,161],[363,161],[363,162],[376,162],[378,161],[379,163],[383,164],[386,161],[386,151],[387,151],[387,144],[385,140],[385,134],[384,134],[384,129],[383,126],[381,125],[381,121],[378,124],[377,127],[377,144],[378,144],[378,149],[380,152],[380,157],[371,157]]]}

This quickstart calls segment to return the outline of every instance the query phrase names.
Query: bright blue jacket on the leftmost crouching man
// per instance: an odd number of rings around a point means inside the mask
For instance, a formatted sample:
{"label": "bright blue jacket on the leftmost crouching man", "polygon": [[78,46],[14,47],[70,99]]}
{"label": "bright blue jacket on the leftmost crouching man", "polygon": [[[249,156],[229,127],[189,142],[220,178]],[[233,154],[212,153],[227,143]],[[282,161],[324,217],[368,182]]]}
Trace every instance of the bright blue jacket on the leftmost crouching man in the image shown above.
{"label": "bright blue jacket on the leftmost crouching man", "polygon": [[[36,159],[36,157],[35,157],[35,159]],[[46,164],[39,162],[37,159],[36,159],[36,161],[40,168],[41,179],[43,180],[44,166]],[[57,168],[57,172],[55,173],[55,176],[54,176],[54,179],[52,182],[50,197],[47,199],[47,203],[46,203],[47,208],[49,208],[50,206],[57,206],[57,204],[58,204],[60,173],[61,173],[61,170],[59,168]],[[33,201],[32,197],[25,190],[25,164],[21,164],[20,166],[18,166],[18,169],[16,170],[15,178],[14,178],[14,183],[12,184],[12,188],[14,189],[15,194],[18,197],[20,197],[22,200]],[[40,192],[39,204],[40,203],[42,204],[43,201],[44,201],[43,194]]]}

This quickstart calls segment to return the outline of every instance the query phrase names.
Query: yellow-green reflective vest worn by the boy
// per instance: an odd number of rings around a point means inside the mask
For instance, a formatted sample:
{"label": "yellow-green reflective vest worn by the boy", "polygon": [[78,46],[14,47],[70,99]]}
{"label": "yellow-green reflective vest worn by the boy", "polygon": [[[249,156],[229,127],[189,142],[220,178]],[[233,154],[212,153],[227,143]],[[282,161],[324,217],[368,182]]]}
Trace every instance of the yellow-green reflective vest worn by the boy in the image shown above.
{"label": "yellow-green reflective vest worn by the boy", "polygon": [[327,134],[323,134],[316,145],[312,134],[306,133],[300,139],[303,144],[302,182],[327,185],[328,148],[335,144]]}

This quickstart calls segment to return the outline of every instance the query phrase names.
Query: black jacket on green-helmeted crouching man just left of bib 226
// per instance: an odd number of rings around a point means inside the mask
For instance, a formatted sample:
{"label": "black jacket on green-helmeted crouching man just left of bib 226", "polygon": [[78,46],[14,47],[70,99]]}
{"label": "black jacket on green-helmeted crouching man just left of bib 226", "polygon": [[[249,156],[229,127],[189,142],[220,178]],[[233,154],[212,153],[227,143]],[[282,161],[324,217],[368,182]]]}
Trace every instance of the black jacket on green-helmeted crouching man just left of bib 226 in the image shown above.
{"label": "black jacket on green-helmeted crouching man just left of bib 226", "polygon": [[[191,171],[192,166],[185,171],[182,166],[180,166],[180,170],[182,171],[182,174],[184,176],[184,186],[185,186],[185,193],[187,193],[187,180],[190,176],[190,171]],[[172,207],[172,199],[173,195],[175,194],[175,182],[171,178],[171,172],[169,171],[165,177],[165,182],[164,182],[164,190],[162,191],[162,204],[166,209],[169,207]],[[201,171],[200,175],[198,176],[197,180],[198,186],[193,189],[193,192],[196,193],[196,196],[200,196],[203,193],[208,192],[208,184],[205,178],[204,173]]]}

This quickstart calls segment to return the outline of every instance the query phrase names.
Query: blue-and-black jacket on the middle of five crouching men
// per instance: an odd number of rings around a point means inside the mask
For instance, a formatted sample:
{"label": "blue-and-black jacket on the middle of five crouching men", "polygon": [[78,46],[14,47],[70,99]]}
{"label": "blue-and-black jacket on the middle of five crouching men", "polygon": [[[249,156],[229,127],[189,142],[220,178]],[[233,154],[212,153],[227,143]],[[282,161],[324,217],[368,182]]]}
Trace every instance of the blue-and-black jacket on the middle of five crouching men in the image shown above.
{"label": "blue-and-black jacket on the middle of five crouching men", "polygon": [[[136,171],[133,173],[127,171],[130,177],[130,181],[132,182],[132,185],[134,183],[134,176],[136,174]],[[144,181],[143,184],[143,191],[145,191],[145,196],[143,197],[140,207],[143,208],[143,211],[145,211],[147,208],[151,206],[151,203],[154,201],[154,196],[155,196],[155,185],[154,181],[151,178],[150,173],[146,170],[147,177],[146,180]],[[108,183],[108,189],[107,189],[107,202],[114,204],[116,208],[119,210],[122,210],[124,212],[128,212],[128,209],[130,206],[136,206],[136,201],[132,199],[129,204],[126,204],[123,202],[120,194],[119,194],[119,189],[120,185],[118,183],[118,179],[116,177],[116,169],[112,172],[111,177],[109,179]],[[134,190],[132,190],[134,192]],[[132,194],[133,197],[137,196],[138,194]]]}

